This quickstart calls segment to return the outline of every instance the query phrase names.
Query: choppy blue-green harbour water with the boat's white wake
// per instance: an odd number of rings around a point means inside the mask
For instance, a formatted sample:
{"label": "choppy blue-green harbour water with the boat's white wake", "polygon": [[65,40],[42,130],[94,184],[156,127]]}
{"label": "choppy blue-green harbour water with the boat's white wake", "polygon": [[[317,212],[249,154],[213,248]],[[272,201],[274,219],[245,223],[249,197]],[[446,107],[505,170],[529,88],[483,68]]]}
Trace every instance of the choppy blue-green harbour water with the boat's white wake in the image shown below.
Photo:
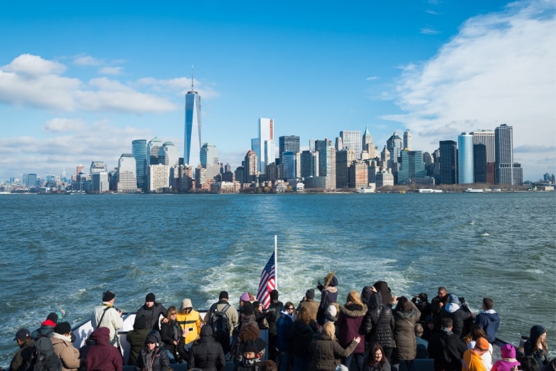
{"label": "choppy blue-green harbour water with the boat's white wake", "polygon": [[[394,295],[438,286],[478,313],[492,297],[500,338],[533,324],[556,349],[556,194],[1,195],[0,365],[58,308],[78,324],[104,290],[136,311],[147,292],[165,306],[208,308],[220,290],[256,292],[278,238],[282,302],[329,270],[351,289],[382,279]],[[318,296],[318,295],[317,295]],[[318,297],[317,297],[318,299]]]}

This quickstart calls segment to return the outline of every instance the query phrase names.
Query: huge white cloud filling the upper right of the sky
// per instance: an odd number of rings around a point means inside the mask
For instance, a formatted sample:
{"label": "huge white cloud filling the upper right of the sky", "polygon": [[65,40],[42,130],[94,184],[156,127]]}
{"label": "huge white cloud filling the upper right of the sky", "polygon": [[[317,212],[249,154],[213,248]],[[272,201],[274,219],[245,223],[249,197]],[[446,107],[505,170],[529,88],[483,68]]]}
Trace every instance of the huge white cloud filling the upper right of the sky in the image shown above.
{"label": "huge white cloud filling the upper right of the sky", "polygon": [[[552,148],[555,26],[550,1],[513,3],[501,13],[468,19],[436,56],[407,65],[398,84],[404,114],[385,118],[402,122],[413,133],[414,147],[427,150],[435,148],[430,133],[445,135],[437,140],[455,140],[461,131],[504,123],[514,128],[514,147]],[[525,174],[541,171],[534,154],[515,157]],[[554,151],[549,157],[556,163]]]}

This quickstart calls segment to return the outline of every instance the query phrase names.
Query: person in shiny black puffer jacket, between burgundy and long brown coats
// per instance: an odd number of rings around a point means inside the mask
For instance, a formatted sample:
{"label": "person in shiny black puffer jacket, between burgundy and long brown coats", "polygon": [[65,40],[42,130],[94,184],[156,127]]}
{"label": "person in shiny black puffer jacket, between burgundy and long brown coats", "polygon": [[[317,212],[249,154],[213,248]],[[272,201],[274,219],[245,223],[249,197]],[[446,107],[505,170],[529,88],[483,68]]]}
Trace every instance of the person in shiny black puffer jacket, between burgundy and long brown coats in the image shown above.
{"label": "person in shiny black puffer jacket, between burgundy and long brown coats", "polygon": [[368,311],[363,319],[363,333],[366,333],[367,343],[379,343],[384,355],[392,359],[395,348],[394,325],[395,320],[390,306],[382,304],[382,295],[372,286],[373,294],[370,295]]}

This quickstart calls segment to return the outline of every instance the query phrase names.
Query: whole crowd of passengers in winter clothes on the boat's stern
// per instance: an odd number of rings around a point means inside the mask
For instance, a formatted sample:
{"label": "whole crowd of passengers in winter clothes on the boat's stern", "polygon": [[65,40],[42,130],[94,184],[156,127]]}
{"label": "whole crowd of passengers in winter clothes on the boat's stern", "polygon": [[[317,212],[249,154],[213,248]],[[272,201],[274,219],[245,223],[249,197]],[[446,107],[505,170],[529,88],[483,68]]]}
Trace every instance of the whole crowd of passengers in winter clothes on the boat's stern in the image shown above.
{"label": "whole crowd of passengers in winter clothes on the boat's stern", "polygon": [[[493,363],[500,317],[489,297],[475,314],[463,297],[442,286],[430,302],[425,292],[396,297],[385,281],[351,290],[345,301],[337,287],[330,272],[318,281],[320,302],[314,288],[297,305],[282,303],[272,290],[267,308],[250,292],[243,292],[236,308],[223,290],[204,316],[188,298],[179,308],[165,308],[150,292],[126,333],[126,365],[137,371],[171,371],[179,363],[188,370],[221,371],[227,362],[237,371],[397,371],[403,364],[415,371],[415,359],[432,358],[434,371],[556,370],[540,325],[519,349],[524,356],[517,358],[516,348],[506,344]],[[32,333],[20,329],[10,371],[122,371],[123,319],[114,302],[113,292],[103,293],[91,314],[94,331],[81,349],[60,312],[50,313]],[[261,330],[268,331],[268,344]]]}

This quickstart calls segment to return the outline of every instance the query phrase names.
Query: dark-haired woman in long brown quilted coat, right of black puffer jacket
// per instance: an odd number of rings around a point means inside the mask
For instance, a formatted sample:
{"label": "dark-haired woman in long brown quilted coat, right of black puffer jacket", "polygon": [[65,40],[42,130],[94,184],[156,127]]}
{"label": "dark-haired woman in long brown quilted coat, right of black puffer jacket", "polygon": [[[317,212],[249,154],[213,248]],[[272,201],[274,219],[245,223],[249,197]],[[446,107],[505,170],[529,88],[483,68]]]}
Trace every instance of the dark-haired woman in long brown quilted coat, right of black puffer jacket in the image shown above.
{"label": "dark-haired woman in long brown quilted coat, right of black puffer jacket", "polygon": [[414,371],[414,359],[417,355],[417,340],[415,337],[415,324],[421,315],[417,306],[407,297],[400,297],[394,311],[394,339],[397,346],[395,361],[398,364],[404,361],[408,371]]}

